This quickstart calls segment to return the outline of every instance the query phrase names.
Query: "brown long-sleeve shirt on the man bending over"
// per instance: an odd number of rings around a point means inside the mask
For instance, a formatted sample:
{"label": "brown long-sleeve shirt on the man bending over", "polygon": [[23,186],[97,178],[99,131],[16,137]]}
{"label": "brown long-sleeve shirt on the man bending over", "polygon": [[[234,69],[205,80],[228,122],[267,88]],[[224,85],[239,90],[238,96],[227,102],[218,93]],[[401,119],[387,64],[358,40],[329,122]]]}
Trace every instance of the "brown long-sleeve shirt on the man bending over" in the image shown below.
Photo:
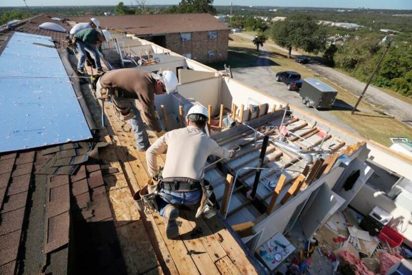
{"label": "brown long-sleeve shirt on the man bending over", "polygon": [[145,121],[154,131],[159,132],[162,128],[155,116],[155,81],[150,72],[133,68],[111,70],[100,77],[100,84],[103,88],[122,89],[126,98],[137,99]]}

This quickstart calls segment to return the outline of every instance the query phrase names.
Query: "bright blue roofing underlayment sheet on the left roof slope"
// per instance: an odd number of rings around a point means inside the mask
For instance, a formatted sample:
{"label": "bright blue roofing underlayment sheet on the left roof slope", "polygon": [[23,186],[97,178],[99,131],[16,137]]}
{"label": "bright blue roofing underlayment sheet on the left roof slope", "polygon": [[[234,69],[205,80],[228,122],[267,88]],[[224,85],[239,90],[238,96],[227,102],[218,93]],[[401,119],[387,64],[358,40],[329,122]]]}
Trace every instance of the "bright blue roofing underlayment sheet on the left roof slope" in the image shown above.
{"label": "bright blue roofing underlayment sheet on the left roof slope", "polygon": [[51,39],[15,32],[0,56],[0,152],[92,137]]}

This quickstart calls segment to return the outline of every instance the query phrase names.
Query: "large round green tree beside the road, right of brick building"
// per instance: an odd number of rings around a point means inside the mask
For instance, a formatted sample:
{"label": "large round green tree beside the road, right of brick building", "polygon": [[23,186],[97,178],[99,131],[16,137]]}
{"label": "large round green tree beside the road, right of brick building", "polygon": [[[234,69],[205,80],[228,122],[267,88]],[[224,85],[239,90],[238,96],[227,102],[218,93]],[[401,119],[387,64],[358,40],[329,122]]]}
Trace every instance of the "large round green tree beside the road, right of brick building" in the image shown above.
{"label": "large round green tree beside the road, right of brick building", "polygon": [[326,35],[315,17],[306,14],[294,14],[284,21],[274,23],[271,37],[279,46],[288,49],[289,58],[292,47],[317,54],[326,44]]}

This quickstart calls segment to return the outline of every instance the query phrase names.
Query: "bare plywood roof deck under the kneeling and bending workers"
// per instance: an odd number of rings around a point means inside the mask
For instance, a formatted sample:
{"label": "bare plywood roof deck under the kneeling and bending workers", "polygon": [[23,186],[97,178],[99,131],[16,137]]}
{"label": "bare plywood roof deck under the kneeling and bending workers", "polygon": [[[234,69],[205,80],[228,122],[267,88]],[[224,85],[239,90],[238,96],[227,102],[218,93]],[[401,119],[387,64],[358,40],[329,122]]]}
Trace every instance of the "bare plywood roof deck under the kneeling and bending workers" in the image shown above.
{"label": "bare plywood roof deck under the kneeling and bending workers", "polygon": [[[87,85],[82,90],[99,124],[100,107]],[[120,171],[105,181],[128,273],[257,274],[250,258],[218,217],[195,219],[193,210],[183,209],[178,219],[180,237],[170,240],[158,213],[137,211],[132,194],[147,182],[145,153],[136,150],[129,126],[118,120],[108,104],[105,113],[108,125],[101,136],[112,144],[102,160],[108,169]],[[154,133],[147,131],[153,141]],[[165,155],[159,157],[159,165],[164,159]]]}

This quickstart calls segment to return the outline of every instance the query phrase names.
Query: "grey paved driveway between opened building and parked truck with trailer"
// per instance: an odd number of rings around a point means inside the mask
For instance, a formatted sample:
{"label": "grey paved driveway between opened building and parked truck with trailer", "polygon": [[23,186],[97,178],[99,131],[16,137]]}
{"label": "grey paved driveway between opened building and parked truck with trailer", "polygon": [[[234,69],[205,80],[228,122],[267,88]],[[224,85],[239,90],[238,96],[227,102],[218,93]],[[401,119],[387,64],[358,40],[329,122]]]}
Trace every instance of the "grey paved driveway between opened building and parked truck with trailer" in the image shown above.
{"label": "grey paved driveway between opened building and parked truck with trailer", "polygon": [[[266,51],[265,48],[262,48],[262,50]],[[265,54],[262,54],[257,62],[258,64],[256,67],[232,69],[233,78],[273,95],[278,99],[284,100],[291,105],[302,107],[305,111],[329,121],[332,124],[339,125],[354,134],[359,134],[330,112],[318,111],[303,105],[302,98],[299,96],[298,92],[288,91],[286,89],[286,84],[275,80],[276,73],[271,69],[271,60],[268,59]]]}

